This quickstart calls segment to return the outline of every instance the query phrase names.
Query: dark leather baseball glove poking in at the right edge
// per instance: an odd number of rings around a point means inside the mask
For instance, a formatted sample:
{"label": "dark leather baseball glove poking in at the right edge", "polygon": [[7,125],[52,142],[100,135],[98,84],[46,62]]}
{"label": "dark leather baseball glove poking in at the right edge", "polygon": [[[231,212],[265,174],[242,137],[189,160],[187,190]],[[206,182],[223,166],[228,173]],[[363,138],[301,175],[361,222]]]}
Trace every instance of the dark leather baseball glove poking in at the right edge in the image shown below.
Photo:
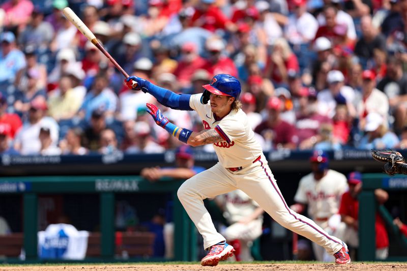
{"label": "dark leather baseball glove poking in at the right edge", "polygon": [[401,173],[407,174],[407,164],[403,156],[395,150],[371,150],[374,160],[385,163],[385,172],[393,176],[394,174]]}

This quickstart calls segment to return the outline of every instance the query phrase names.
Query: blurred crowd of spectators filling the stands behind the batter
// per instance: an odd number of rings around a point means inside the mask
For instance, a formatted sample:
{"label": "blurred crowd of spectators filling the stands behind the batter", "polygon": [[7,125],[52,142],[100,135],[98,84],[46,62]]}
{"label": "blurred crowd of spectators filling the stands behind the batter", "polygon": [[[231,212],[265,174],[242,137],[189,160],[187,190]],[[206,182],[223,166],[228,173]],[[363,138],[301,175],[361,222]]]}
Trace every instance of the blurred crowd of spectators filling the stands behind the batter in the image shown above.
{"label": "blurred crowd of spectators filling the stands behind the batter", "polygon": [[[1,153],[182,144],[146,114],[154,98],[130,91],[64,17],[67,6],[129,74],[184,94],[218,73],[238,77],[266,151],[407,147],[406,0],[0,0]],[[203,130],[194,112],[161,109]]]}

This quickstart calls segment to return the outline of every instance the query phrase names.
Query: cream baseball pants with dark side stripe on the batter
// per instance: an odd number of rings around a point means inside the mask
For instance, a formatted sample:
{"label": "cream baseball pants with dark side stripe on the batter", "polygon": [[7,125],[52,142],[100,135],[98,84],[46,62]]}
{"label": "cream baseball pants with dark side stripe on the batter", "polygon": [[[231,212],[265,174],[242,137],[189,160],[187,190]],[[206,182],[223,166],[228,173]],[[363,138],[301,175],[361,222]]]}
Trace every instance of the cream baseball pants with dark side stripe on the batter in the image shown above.
{"label": "cream baseball pants with dark side stripe on the batter", "polygon": [[276,222],[334,254],[342,241],[326,233],[312,220],[295,213],[285,202],[264,155],[256,162],[231,172],[219,163],[186,180],[178,190],[178,198],[203,237],[203,248],[225,240],[216,231],[203,199],[240,189],[255,200]]}

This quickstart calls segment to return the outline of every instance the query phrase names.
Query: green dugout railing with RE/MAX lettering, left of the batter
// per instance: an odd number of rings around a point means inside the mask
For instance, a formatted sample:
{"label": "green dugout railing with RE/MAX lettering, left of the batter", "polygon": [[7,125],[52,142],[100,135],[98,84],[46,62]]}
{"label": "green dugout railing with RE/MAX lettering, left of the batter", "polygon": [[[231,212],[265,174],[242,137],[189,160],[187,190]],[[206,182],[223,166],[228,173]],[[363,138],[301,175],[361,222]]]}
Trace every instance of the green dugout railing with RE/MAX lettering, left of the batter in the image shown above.
{"label": "green dugout railing with RE/MAX lettering, left of the batter", "polygon": [[[23,248],[24,262],[40,261],[37,255],[38,195],[39,194],[99,194],[100,204],[95,212],[100,214],[100,257],[88,261],[117,261],[114,256],[114,209],[115,195],[118,193],[172,193],[173,221],[175,224],[174,251],[176,261],[196,261],[196,230],[177,197],[177,190],[183,180],[160,179],[150,183],[140,176],[26,176],[1,177],[2,194],[22,194],[23,205]],[[128,258],[126,261],[145,261],[146,258]],[[149,258],[150,261],[165,260]],[[5,262],[21,260],[6,259]],[[46,260],[49,261],[49,260]],[[60,260],[61,261],[61,260]],[[65,260],[64,260],[65,261]]]}

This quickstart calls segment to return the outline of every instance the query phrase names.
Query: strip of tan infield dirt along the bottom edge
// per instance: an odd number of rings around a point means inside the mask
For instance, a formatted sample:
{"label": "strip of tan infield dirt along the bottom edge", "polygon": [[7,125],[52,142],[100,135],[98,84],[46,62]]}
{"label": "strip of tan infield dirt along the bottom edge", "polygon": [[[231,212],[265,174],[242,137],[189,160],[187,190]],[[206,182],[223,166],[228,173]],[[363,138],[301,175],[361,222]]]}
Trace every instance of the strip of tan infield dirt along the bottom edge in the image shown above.
{"label": "strip of tan infield dirt along the bottom edge", "polygon": [[335,264],[295,264],[295,263],[257,263],[257,264],[219,264],[216,267],[200,266],[199,264],[109,264],[109,265],[49,265],[49,266],[0,266],[0,270],[10,271],[238,271],[238,270],[407,270],[407,263],[351,263],[344,266]]}

